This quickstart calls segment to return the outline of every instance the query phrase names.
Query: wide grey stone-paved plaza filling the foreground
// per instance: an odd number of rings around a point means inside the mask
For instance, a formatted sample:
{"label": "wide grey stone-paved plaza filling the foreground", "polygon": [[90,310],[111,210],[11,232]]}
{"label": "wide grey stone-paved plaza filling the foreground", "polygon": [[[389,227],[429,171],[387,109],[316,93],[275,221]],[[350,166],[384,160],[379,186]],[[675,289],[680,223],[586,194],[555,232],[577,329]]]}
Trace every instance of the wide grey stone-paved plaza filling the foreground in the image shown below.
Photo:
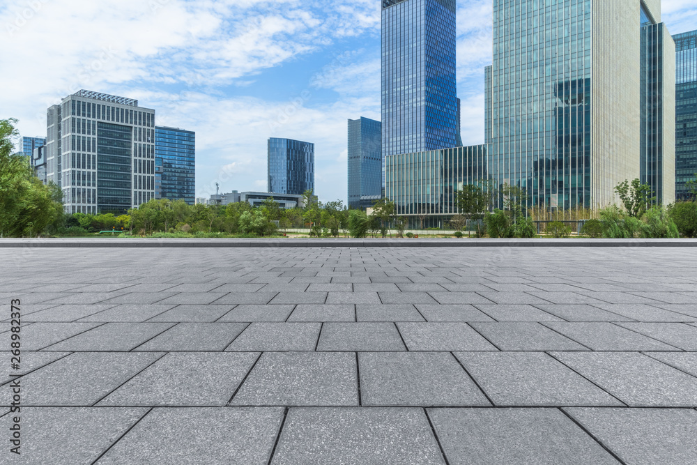
{"label": "wide grey stone-paved plaza filling the foreground", "polygon": [[694,247],[0,260],[2,464],[697,463]]}

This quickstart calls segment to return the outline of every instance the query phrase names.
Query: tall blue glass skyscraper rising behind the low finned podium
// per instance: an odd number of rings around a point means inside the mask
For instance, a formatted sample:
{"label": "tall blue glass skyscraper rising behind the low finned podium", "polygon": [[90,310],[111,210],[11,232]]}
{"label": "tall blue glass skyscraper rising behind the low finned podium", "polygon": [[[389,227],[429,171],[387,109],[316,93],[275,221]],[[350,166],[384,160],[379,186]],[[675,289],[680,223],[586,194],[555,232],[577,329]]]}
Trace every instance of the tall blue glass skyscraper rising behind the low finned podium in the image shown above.
{"label": "tall blue glass skyscraper rising behind the low finned podium", "polygon": [[455,1],[383,0],[385,156],[458,144]]}

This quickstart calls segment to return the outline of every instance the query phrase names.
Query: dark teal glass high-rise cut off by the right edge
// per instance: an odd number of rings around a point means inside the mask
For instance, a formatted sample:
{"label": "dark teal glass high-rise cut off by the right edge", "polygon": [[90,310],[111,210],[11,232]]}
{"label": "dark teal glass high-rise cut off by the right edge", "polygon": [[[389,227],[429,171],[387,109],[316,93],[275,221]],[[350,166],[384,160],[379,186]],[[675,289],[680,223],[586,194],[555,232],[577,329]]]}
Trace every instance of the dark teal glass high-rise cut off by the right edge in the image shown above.
{"label": "dark teal glass high-rise cut off by the right edge", "polygon": [[675,40],[675,198],[691,198],[697,173],[697,31]]}

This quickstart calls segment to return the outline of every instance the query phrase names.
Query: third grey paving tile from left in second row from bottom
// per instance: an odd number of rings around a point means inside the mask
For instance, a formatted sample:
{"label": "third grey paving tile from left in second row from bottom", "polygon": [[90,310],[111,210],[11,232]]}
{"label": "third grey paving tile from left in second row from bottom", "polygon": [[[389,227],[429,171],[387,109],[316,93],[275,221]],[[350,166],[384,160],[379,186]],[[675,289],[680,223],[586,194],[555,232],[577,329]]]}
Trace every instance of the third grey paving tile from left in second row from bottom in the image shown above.
{"label": "third grey paving tile from left in second row from bottom", "polygon": [[257,357],[258,352],[167,353],[98,405],[224,406]]}

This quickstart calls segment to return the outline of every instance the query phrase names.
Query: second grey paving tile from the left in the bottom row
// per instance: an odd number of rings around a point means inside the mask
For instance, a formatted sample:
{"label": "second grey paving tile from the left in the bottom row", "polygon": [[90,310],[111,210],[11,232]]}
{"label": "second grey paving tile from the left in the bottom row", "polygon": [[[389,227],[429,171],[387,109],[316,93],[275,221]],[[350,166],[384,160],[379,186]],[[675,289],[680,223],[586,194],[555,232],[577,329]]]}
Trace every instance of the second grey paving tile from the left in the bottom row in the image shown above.
{"label": "second grey paving tile from the left in the bottom row", "polygon": [[282,420],[279,407],[153,409],[99,464],[266,465]]}

